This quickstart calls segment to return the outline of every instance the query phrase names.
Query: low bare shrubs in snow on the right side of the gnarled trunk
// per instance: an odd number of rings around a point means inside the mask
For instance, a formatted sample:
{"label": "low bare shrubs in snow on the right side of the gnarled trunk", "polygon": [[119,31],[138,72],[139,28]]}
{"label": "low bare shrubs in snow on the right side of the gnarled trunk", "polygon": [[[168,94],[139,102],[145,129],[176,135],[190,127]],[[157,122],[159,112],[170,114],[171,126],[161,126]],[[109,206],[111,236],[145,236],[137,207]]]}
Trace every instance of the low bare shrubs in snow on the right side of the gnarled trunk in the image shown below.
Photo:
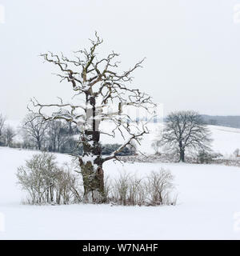
{"label": "low bare shrubs in snow on the right side of the gnarled trunk", "polygon": [[177,196],[172,195],[173,178],[170,171],[164,169],[151,172],[145,178],[120,174],[111,186],[109,200],[123,206],[175,205]]}

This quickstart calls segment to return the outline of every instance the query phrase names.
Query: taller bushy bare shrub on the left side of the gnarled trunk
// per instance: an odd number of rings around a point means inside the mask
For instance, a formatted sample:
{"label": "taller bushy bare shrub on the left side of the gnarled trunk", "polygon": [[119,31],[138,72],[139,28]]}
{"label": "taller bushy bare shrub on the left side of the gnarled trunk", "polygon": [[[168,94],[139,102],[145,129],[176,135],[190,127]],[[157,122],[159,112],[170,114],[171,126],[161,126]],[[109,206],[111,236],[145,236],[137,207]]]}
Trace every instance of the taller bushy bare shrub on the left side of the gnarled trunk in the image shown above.
{"label": "taller bushy bare shrub on the left side of the gnarled trunk", "polygon": [[70,173],[70,166],[58,167],[54,154],[42,153],[26,161],[18,168],[18,184],[27,192],[30,204],[68,204],[81,202],[76,178]]}

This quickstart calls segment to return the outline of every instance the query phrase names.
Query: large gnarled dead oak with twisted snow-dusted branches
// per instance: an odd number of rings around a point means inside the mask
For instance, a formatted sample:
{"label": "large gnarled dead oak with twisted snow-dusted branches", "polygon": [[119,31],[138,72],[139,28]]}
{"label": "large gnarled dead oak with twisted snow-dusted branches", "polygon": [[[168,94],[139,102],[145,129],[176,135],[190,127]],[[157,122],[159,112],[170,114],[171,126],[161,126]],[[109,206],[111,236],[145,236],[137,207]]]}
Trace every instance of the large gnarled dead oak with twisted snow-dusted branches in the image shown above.
{"label": "large gnarled dead oak with twisted snow-dusted branches", "polygon": [[[57,74],[58,77],[61,82],[70,83],[74,92],[72,100],[77,99],[78,102],[64,103],[60,98],[59,103],[42,104],[34,98],[33,107],[29,109],[35,109],[34,112],[45,121],[61,119],[78,125],[79,144],[83,146],[83,154],[78,155],[78,160],[86,200],[101,202],[104,191],[103,163],[110,159],[118,160],[118,153],[133,141],[140,143],[142,135],[148,133],[146,124],[139,126],[132,122],[126,108],[151,111],[150,106],[153,107],[154,104],[149,95],[130,87],[131,74],[141,67],[143,60],[130,70],[118,73],[119,62],[115,61],[118,54],[113,51],[106,58],[98,58],[96,50],[102,44],[98,34],[95,34],[94,40],[90,40],[90,44],[89,50],[78,50],[74,52],[73,58],[67,58],[63,54],[41,54],[46,62],[59,68],[61,74]],[[111,107],[114,109],[115,106],[116,109],[109,113]],[[46,114],[46,108],[52,108],[52,114]],[[109,122],[111,129],[102,130],[102,122]],[[103,157],[101,135],[114,138],[118,132],[124,140],[122,146],[110,156]]]}

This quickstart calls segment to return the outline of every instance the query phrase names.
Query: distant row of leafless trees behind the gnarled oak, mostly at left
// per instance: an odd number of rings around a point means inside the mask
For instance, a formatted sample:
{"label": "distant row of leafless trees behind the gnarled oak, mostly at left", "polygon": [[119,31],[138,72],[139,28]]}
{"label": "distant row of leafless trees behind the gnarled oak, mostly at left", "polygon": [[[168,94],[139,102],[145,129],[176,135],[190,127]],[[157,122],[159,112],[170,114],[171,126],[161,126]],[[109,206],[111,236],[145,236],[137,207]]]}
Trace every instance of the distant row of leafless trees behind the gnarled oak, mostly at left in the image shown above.
{"label": "distant row of leafless trees behind the gnarled oak, mostly at left", "polygon": [[[6,125],[6,117],[0,113],[0,146],[41,150],[63,154],[83,154],[78,140],[79,132],[73,123],[59,120],[42,122],[34,114],[26,114],[18,129]],[[112,154],[120,144],[102,144],[102,154]],[[135,154],[134,146],[126,146],[121,154]]]}

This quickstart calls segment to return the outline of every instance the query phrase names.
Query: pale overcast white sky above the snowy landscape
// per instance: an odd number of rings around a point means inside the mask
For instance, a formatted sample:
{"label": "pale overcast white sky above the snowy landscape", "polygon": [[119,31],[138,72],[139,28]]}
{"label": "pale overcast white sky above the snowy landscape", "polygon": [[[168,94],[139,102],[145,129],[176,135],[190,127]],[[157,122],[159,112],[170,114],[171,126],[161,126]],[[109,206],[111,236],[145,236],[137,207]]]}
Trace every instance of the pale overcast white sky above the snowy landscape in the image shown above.
{"label": "pale overcast white sky above the snowy landscape", "polygon": [[[240,115],[240,0],[0,0],[0,112],[26,114],[30,98],[50,103],[71,95],[54,67],[38,54],[69,54],[88,46],[94,31],[102,51],[121,54],[122,66],[146,57],[133,86],[171,110]],[[239,9],[240,10],[240,9]]]}

